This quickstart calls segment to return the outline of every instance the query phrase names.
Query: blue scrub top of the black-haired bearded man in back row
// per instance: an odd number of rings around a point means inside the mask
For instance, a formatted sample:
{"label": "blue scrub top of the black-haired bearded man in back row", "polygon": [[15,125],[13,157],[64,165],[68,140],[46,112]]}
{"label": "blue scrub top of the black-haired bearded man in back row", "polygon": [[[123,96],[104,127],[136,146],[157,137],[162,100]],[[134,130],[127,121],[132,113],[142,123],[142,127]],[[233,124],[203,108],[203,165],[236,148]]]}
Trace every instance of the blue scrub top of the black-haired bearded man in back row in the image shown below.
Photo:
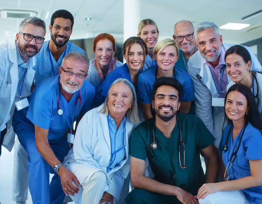
{"label": "blue scrub top of the black-haired bearded man in back row", "polygon": [[[49,41],[45,41],[42,45],[40,51],[36,54],[36,66],[34,67],[35,73],[35,86],[37,87],[43,80],[54,76],[54,72],[52,70],[52,64],[54,66],[55,74],[58,74],[58,67],[62,63],[62,59],[69,52],[80,52],[81,54],[86,55],[86,52],[79,48],[77,45],[67,42],[66,48],[64,52],[61,54],[59,59],[56,61],[49,50]],[[51,56],[52,62],[50,61]],[[52,63],[52,64],[51,64]]]}

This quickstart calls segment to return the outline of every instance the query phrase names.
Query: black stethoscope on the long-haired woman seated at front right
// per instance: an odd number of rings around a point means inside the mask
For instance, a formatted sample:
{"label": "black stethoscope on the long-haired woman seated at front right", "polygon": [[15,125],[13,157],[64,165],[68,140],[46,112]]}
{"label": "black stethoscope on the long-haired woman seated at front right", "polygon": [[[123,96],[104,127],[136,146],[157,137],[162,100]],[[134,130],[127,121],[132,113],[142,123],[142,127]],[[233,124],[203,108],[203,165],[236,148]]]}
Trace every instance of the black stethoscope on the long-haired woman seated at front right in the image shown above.
{"label": "black stethoscope on the long-haired woman seated at front right", "polygon": [[[241,133],[241,136],[240,136],[240,139],[239,139],[239,142],[238,142],[238,146],[237,146],[236,150],[231,154],[230,159],[229,159],[229,161],[228,161],[228,164],[227,164],[227,166],[226,166],[226,170],[225,170],[225,174],[224,174],[224,179],[227,180],[227,181],[228,181],[227,177],[229,176],[229,170],[230,170],[232,164],[234,163],[234,161],[236,160],[236,154],[237,154],[238,149],[239,149],[239,147],[240,147],[241,140],[242,140],[242,137],[243,137],[243,135],[244,135],[244,133],[245,133],[245,129],[246,129],[247,125],[248,125],[248,123],[246,122],[245,126],[242,127],[242,130],[240,131],[240,132],[242,132],[242,133]],[[229,131],[228,131],[227,136],[226,136],[225,145],[222,147],[222,151],[227,152],[227,150],[228,150],[228,145],[227,145],[227,144],[228,144],[228,141],[229,141],[229,136],[230,136],[231,133],[232,133],[232,128],[233,128],[233,124],[232,124],[232,125],[230,126],[230,128],[229,128]],[[232,133],[232,136],[233,136],[233,133]],[[231,165],[229,166],[229,163],[230,163],[230,162],[231,162]],[[229,166],[229,169],[227,170],[228,166]],[[226,175],[227,175],[227,176],[226,176]]]}

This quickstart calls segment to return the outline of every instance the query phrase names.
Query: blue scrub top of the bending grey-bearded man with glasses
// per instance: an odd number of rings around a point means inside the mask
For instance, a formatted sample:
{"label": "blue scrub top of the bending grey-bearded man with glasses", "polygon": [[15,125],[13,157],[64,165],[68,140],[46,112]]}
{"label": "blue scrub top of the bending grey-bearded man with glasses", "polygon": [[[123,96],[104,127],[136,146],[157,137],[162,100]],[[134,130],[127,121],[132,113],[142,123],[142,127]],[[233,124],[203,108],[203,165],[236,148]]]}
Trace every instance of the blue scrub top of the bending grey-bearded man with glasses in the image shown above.
{"label": "blue scrub top of the bending grey-bearded man with glasses", "polygon": [[[35,124],[40,128],[49,129],[49,140],[60,138],[65,134],[69,129],[69,124],[72,125],[78,118],[80,100],[78,99],[75,112],[78,91],[75,92],[70,101],[67,102],[59,90],[59,79],[60,76],[56,75],[45,80],[32,92],[31,96],[29,96],[29,107],[20,111],[15,111],[13,126],[17,125],[16,129],[24,128],[29,129],[30,132],[34,132]],[[64,111],[63,115],[57,114],[58,95],[60,108]],[[94,95],[95,87],[87,80],[84,80],[80,89],[80,96],[82,97],[80,115],[83,116],[91,109]]]}

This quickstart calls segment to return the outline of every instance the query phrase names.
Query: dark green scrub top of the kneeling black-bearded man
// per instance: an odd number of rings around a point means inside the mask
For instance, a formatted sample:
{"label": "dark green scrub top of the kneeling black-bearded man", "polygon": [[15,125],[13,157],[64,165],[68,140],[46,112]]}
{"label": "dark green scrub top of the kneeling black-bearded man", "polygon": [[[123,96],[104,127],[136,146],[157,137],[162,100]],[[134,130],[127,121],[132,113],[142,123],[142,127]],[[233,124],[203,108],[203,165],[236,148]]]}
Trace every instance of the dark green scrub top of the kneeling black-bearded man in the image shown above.
{"label": "dark green scrub top of the kneeling black-bearded man", "polygon": [[[181,126],[182,140],[185,143],[185,166],[188,168],[183,169],[179,164],[180,136],[177,123],[169,139],[155,126],[156,150],[150,147],[153,142],[154,118],[141,123],[134,129],[130,138],[130,154],[142,160],[148,158],[155,180],[197,195],[199,187],[206,181],[201,166],[200,149],[211,145],[215,138],[196,115],[177,113],[176,117]],[[181,147],[180,160],[183,166],[184,152]]]}

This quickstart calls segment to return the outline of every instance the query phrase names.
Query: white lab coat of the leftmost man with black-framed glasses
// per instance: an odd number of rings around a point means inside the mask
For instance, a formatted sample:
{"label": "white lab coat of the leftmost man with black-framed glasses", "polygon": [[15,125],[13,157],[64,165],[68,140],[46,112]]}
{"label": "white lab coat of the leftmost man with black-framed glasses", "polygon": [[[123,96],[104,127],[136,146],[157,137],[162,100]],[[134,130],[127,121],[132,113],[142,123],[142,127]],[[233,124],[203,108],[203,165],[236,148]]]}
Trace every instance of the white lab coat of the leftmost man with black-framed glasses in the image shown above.
{"label": "white lab coat of the leftmost man with black-framed glasses", "polygon": [[[16,41],[15,41],[16,43]],[[15,110],[18,78],[17,66],[17,49],[15,43],[4,43],[0,45],[0,130],[8,126],[7,133],[4,137],[3,147],[11,151],[15,143],[15,132],[12,127],[12,116]],[[22,90],[22,98],[31,94],[31,85],[35,76],[33,67],[36,65],[35,57],[33,57],[32,67],[27,69],[24,87]]]}

